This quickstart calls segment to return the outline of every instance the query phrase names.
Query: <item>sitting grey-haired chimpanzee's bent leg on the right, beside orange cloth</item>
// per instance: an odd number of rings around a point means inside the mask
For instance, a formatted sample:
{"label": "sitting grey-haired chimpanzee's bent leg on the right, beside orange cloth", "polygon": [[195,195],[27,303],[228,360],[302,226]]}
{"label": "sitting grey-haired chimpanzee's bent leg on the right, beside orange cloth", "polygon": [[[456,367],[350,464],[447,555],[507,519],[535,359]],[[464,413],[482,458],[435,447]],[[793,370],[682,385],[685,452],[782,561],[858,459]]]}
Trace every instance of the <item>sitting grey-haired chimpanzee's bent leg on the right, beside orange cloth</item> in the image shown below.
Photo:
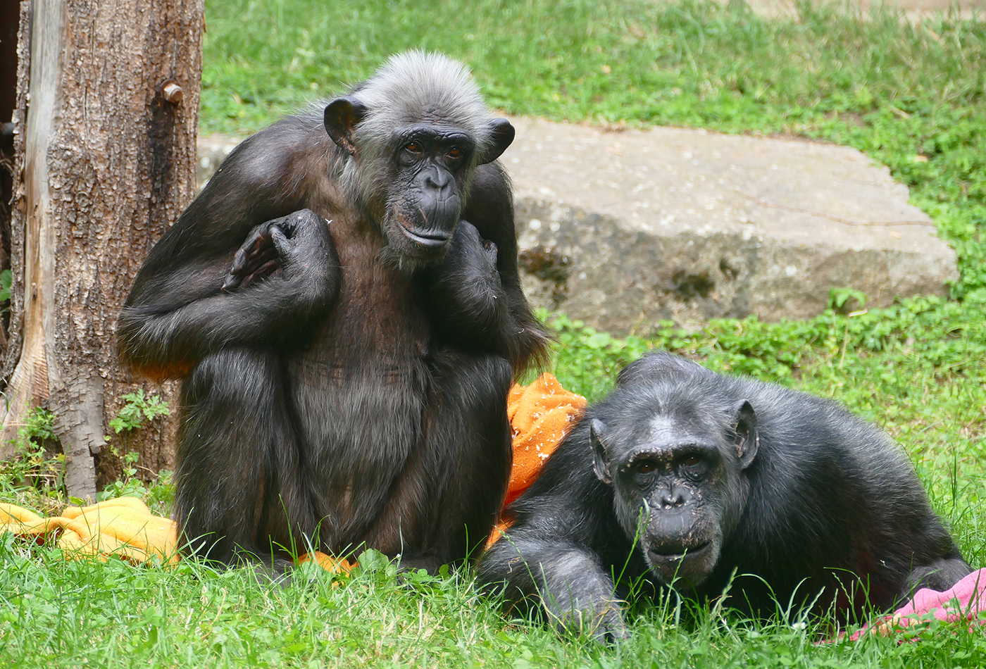
{"label": "sitting grey-haired chimpanzee's bent leg on the right, beside orange cloth", "polygon": [[430,571],[478,555],[503,503],[513,459],[510,364],[445,351],[436,355],[433,373],[422,443],[368,536],[370,545],[400,553],[403,567]]}

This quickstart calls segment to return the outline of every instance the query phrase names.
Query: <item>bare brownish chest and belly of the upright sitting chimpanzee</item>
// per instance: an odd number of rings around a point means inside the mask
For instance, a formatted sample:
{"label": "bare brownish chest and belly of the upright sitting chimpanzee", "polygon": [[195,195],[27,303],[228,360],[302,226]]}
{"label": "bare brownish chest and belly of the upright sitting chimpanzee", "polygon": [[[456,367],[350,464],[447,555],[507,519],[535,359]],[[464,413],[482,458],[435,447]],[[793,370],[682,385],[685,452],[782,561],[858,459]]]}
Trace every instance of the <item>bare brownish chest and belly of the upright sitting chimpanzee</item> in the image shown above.
{"label": "bare brownish chest and belly of the upright sitting chimpanzee", "polygon": [[371,287],[344,280],[309,345],[287,359],[303,467],[338,536],[383,510],[424,438],[432,391],[428,321],[406,278],[380,274]]}

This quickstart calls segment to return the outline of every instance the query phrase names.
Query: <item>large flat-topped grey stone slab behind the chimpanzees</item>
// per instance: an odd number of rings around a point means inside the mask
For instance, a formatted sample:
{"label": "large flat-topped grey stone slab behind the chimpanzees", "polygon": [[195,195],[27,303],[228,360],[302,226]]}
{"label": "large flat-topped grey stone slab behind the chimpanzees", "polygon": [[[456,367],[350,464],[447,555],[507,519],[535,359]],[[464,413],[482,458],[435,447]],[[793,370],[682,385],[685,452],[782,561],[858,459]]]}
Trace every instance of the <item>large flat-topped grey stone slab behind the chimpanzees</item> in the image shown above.
{"label": "large flat-topped grey stone slab behind the chimpanzees", "polygon": [[528,295],[612,332],[945,295],[954,251],[886,167],[846,147],[512,119]]}

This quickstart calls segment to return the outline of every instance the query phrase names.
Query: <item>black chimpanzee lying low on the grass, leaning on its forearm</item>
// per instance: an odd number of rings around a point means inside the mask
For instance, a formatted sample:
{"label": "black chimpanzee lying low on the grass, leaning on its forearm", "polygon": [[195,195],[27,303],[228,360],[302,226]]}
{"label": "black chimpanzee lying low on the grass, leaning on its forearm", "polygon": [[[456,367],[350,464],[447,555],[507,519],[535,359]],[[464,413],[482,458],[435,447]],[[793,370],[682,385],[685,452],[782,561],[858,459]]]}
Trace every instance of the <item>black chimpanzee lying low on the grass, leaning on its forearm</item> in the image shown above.
{"label": "black chimpanzee lying low on the grass, leaning on its forearm", "polygon": [[614,574],[700,601],[738,574],[726,603],[747,614],[851,618],[970,571],[887,435],[834,402],[667,353],[620,372],[508,513],[480,581],[598,638],[626,634]]}

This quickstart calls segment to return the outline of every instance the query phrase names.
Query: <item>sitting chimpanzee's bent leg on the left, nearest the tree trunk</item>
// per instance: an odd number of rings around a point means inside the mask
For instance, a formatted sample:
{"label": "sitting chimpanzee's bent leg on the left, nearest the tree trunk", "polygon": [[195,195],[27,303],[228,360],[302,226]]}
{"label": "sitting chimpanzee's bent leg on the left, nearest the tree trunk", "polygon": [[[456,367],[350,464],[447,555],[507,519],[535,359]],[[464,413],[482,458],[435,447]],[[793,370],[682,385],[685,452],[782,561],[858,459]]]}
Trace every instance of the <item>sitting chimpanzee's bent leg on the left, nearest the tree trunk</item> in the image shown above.
{"label": "sitting chimpanzee's bent leg on the left, nearest the tree trunk", "polygon": [[292,542],[304,552],[314,521],[282,376],[273,353],[225,349],[185,379],[175,513],[186,552],[227,564],[280,562]]}

